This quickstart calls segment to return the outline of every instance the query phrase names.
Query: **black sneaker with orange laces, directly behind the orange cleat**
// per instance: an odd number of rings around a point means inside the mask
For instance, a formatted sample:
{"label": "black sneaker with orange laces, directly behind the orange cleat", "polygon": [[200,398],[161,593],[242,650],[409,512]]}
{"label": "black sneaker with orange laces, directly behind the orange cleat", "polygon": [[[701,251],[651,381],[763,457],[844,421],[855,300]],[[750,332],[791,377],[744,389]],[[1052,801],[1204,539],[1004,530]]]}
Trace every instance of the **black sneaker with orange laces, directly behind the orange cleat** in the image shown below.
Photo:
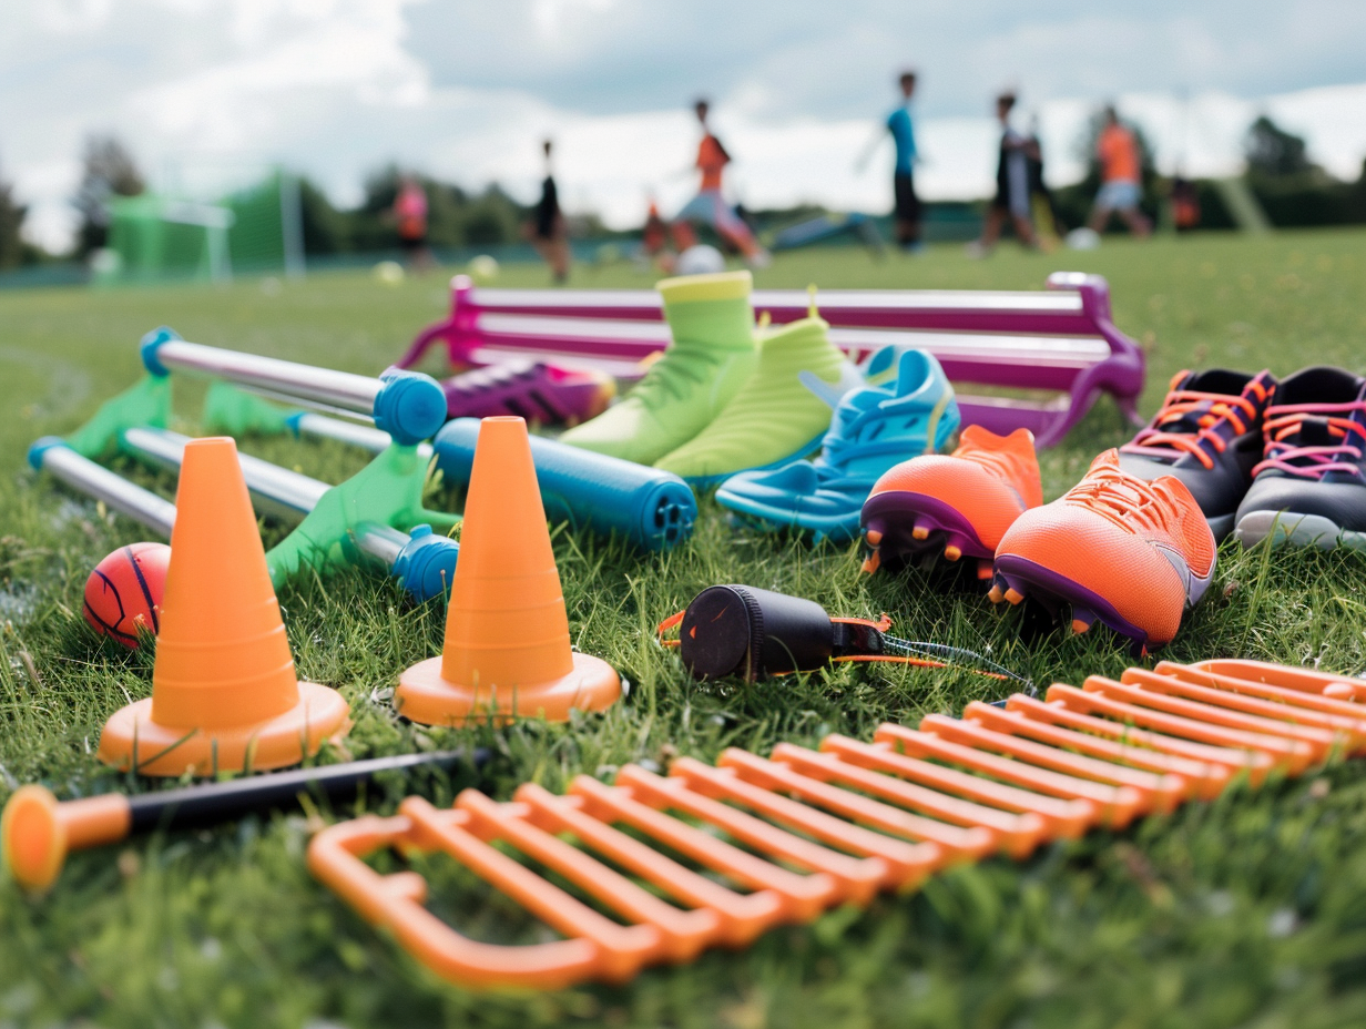
{"label": "black sneaker with orange laces, directly behind the orange cleat", "polygon": [[1262,459],[1262,415],[1276,392],[1270,372],[1177,372],[1147,428],[1119,448],[1120,467],[1152,481],[1175,476],[1223,540]]}

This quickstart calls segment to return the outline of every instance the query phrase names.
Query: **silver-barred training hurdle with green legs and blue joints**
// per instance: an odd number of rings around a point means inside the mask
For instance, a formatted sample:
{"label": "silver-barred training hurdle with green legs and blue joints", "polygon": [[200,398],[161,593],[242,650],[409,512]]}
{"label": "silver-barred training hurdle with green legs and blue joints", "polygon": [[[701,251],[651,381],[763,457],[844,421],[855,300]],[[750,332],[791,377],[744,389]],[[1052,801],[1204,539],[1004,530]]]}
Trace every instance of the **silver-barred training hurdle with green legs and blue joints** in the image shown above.
{"label": "silver-barred training hurdle with green legs and blue joints", "polygon": [[[51,471],[79,492],[168,536],[175,521],[173,504],[94,462],[124,452],[154,467],[179,469],[189,440],[165,428],[171,421],[172,370],[213,383],[206,398],[206,421],[208,409],[213,407],[216,428],[228,428],[232,435],[258,429],[262,421],[281,426],[287,421],[283,413],[235,387],[316,406],[370,422],[373,428],[340,425],[365,439],[382,437],[384,445],[365,469],[336,486],[238,455],[262,512],[299,522],[266,558],[272,585],[280,588],[301,571],[321,571],[365,558],[381,562],[419,601],[449,588],[456,545],[434,534],[432,526],[448,529],[459,518],[422,507],[432,448],[421,440],[434,435],[445,421],[445,396],[434,380],[414,372],[391,370],[372,379],[313,368],[189,343],[165,328],[143,338],[141,355],[148,374],[101,404],[67,439],[38,440],[29,451],[34,470]],[[335,424],[331,418],[322,421],[329,428]]]}

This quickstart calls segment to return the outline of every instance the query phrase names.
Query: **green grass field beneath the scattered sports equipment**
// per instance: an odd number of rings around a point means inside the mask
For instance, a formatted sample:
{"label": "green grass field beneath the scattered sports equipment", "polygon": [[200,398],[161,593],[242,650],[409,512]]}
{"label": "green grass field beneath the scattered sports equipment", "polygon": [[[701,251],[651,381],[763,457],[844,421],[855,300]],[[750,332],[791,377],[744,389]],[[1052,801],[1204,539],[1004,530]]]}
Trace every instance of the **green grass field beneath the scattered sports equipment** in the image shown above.
{"label": "green grass field beneath the scattered sports equipment", "polygon": [[[855,250],[783,257],[762,286],[1041,288],[1048,272],[1105,275],[1116,323],[1149,348],[1143,410],[1188,366],[1306,363],[1366,372],[1366,234],[1209,235],[1091,254],[956,249],[873,264]],[[508,284],[545,272],[510,268]],[[647,286],[626,268],[579,286]],[[148,788],[93,757],[104,719],[150,690],[150,657],[96,640],[79,618],[93,563],[143,538],[25,466],[27,444],[79,425],[138,372],[137,340],[169,324],[201,343],[378,372],[445,309],[441,276],[385,287],[363,275],[265,288],[180,287],[0,294],[0,801],[19,783],[59,795]],[[195,394],[178,410],[193,418]],[[193,430],[193,421],[189,426]],[[1131,430],[1102,400],[1044,456],[1045,493],[1071,485]],[[246,450],[340,481],[361,459],[339,447],[250,440]],[[143,477],[145,482],[157,480]],[[158,481],[164,491],[173,488]],[[265,527],[268,543],[280,537]],[[915,574],[859,574],[854,548],[811,548],[732,532],[703,503],[694,540],[665,556],[556,536],[571,629],[583,650],[631,681],[630,697],[571,726],[419,730],[385,690],[437,652],[444,609],[414,609],[378,575],[348,573],[280,596],[301,676],[351,701],[355,757],[488,745],[488,788],[559,790],[632,760],[766,752],[831,731],[867,737],[882,720],[956,713],[993,683],[963,672],[841,667],[743,686],[701,686],[653,642],[653,626],[701,588],[746,582],[813,597],[833,614],[889,611],[914,638],[992,648],[1035,682],[1120,672],[1119,641],[1038,633],[1019,611]],[[1244,656],[1337,671],[1366,668],[1366,558],[1240,552],[1227,544],[1212,600],[1162,656]],[[76,612],[76,614],[72,614]],[[403,790],[449,802],[459,783]],[[317,819],[317,816],[314,816]],[[0,1026],[1336,1026],[1366,1024],[1366,765],[1330,767],[1258,793],[1235,790],[1121,832],[1093,832],[1026,862],[985,861],[918,894],[777,929],[738,954],[709,951],[622,988],[474,995],[407,959],[303,866],[314,827],[250,819],[72,857],[46,898],[0,876]],[[540,939],[510,903],[437,864],[436,907],[490,940]]]}

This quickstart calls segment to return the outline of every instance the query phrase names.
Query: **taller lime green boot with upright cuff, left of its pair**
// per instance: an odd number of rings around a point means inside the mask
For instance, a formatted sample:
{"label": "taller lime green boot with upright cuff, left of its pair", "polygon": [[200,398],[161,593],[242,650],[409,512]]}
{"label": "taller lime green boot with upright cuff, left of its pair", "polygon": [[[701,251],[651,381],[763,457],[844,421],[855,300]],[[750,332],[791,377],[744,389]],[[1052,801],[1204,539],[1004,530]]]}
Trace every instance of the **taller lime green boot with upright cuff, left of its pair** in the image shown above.
{"label": "taller lime green boot with upright cuff, left of its pair", "polygon": [[673,342],[626,399],[560,441],[653,465],[702,432],[758,362],[751,286],[749,272],[661,282]]}

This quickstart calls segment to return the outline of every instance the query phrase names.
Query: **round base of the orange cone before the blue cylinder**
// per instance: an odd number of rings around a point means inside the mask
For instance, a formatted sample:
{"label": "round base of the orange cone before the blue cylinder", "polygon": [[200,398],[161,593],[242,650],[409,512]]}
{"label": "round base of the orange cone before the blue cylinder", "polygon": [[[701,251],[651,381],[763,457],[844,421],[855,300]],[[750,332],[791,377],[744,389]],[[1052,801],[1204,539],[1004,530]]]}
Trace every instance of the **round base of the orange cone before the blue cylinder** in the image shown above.
{"label": "round base of the orange cone before the blue cylinder", "polygon": [[574,653],[574,671],[563,679],[530,686],[489,689],[441,678],[441,659],[429,657],[399,676],[393,691],[398,712],[423,726],[462,726],[493,717],[544,717],[568,722],[570,711],[605,711],[622,697],[622,678],[601,657]]}

